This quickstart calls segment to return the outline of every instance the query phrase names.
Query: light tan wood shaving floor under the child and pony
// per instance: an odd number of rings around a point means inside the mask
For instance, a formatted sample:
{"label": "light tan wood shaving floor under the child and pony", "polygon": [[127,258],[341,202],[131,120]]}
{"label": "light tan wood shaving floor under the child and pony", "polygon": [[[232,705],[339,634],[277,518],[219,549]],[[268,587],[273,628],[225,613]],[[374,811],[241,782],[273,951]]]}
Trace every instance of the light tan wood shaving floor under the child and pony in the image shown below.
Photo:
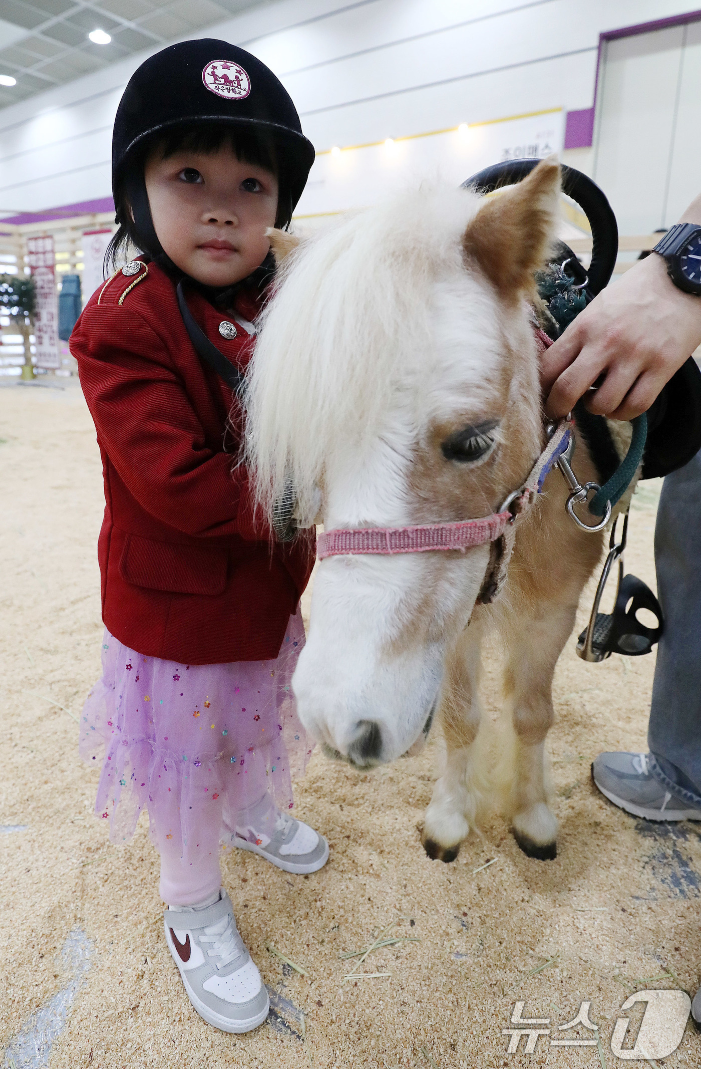
{"label": "light tan wood shaving floor under the child and pony", "polygon": [[[587,665],[574,639],[557,670],[549,742],[556,861],[526,857],[497,815],[456,862],[430,861],[418,827],[435,741],[369,773],[315,753],[297,812],[328,837],[328,865],[295,878],[254,855],[224,856],[270,1018],[234,1037],[194,1013],[163,941],[145,815],[128,846],[110,846],[92,816],[97,772],[78,759],[76,717],[99,671],[103,491],[82,394],[75,379],[63,385],[0,389],[3,1067],[612,1069],[610,1036],[628,993],[692,995],[699,986],[701,825],[637,821],[593,788],[597,753],[647,748],[654,657]],[[653,587],[658,490],[636,495],[626,555]],[[494,659],[487,668],[495,711]],[[402,942],[362,962],[343,957],[381,930]],[[344,979],[352,973],[367,975]],[[509,1055],[502,1029],[518,1001],[523,1017],[547,1019],[539,1027],[550,1037]],[[582,1001],[601,1044],[549,1047]],[[689,1023],[665,1065],[701,1066],[700,1044]]]}

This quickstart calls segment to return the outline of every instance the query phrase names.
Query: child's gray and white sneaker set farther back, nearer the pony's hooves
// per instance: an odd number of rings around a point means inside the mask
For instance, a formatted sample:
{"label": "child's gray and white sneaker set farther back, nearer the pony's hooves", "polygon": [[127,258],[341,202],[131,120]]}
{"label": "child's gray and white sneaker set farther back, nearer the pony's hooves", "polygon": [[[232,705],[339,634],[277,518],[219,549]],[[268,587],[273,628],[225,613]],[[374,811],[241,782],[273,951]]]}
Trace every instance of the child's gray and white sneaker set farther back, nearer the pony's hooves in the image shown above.
{"label": "child's gray and white sneaker set farther back, nearer the pony's hooves", "polygon": [[328,842],[309,824],[281,812],[269,794],[238,814],[236,826],[224,839],[239,850],[251,850],[284,872],[316,872],[328,861]]}

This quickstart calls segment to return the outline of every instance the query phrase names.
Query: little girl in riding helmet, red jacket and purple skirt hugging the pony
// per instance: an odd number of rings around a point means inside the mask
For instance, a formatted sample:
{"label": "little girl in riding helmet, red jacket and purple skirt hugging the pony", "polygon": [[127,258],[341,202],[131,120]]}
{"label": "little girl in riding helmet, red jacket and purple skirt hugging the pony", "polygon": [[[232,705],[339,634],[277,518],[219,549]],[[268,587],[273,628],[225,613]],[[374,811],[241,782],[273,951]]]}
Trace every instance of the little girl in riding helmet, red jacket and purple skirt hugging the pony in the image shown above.
{"label": "little girl in riding helmet, red jacket and purple skirt hugging the pony", "polygon": [[282,544],[256,523],[232,456],[232,385],[272,273],[266,229],[289,223],[313,159],[253,56],[188,41],[149,59],[112,144],[111,252],[130,242],[145,254],[93,295],[72,336],[106,497],[103,678],[81,754],[105,747],[96,812],[112,840],[149,809],[166,941],[190,1002],[225,1032],[264,1021],[268,996],[221,887],[220,836],[287,872],[328,857],[287,811],[291,764],[309,753],[290,679],[313,541]]}

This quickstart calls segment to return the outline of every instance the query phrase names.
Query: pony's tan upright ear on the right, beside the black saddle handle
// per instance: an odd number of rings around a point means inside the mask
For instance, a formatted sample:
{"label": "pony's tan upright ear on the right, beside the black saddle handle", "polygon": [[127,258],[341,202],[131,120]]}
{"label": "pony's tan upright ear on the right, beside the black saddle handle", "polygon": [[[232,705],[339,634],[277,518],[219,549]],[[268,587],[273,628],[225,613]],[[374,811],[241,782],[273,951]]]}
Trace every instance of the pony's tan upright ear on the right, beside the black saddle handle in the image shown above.
{"label": "pony's tan upright ear on the right, beside the black saddle handle", "polygon": [[556,234],[560,165],[548,156],[528,177],[489,197],[468,224],[463,248],[503,295],[533,289]]}

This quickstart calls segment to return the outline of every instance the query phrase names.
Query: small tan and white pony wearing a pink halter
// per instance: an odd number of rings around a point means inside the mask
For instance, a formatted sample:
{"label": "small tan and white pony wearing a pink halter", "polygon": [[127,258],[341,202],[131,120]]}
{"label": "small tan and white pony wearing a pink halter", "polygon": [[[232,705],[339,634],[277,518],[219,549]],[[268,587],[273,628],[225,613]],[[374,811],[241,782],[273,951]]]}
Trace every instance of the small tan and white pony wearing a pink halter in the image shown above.
{"label": "small tan and white pony wearing a pink halter", "polygon": [[[248,375],[247,451],[263,509],[290,483],[300,524],[326,530],[485,516],[547,440],[533,275],[555,239],[560,170],[544,160],[493,198],[434,188],[342,216],[280,262]],[[583,483],[597,475],[586,446]],[[422,841],[452,861],[474,826],[480,646],[507,649],[507,799],[529,855],[556,856],[544,743],[551,682],[602,536],[565,512],[558,472],[517,528],[505,586],[476,604],[490,547],[320,563],[293,687],[307,730],[357,765],[392,761],[442,723],[446,766]]]}

